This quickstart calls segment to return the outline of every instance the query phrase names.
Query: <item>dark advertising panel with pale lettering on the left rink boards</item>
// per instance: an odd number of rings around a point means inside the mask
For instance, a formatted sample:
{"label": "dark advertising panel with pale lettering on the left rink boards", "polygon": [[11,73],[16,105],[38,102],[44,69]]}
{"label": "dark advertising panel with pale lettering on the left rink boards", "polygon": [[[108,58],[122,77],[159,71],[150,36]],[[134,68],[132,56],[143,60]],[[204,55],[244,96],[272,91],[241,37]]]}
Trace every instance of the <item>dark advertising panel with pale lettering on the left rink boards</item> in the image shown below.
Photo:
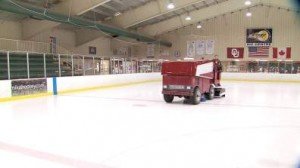
{"label": "dark advertising panel with pale lettering on the left rink boards", "polygon": [[47,79],[22,79],[11,81],[12,96],[47,93]]}

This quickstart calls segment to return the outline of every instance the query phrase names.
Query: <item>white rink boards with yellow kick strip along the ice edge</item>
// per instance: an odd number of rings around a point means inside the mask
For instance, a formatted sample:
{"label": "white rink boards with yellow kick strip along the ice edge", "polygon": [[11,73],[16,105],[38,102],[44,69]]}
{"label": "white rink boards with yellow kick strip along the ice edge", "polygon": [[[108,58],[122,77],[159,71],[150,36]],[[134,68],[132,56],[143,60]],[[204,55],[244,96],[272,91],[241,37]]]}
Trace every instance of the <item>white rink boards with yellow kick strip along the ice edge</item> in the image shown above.
{"label": "white rink boards with yellow kick strip along the ice edge", "polygon": [[[223,81],[300,83],[299,74],[222,73]],[[0,81],[0,102],[73,92],[90,91],[161,81],[160,73],[118,74],[47,78],[47,92],[12,96],[12,80]]]}

